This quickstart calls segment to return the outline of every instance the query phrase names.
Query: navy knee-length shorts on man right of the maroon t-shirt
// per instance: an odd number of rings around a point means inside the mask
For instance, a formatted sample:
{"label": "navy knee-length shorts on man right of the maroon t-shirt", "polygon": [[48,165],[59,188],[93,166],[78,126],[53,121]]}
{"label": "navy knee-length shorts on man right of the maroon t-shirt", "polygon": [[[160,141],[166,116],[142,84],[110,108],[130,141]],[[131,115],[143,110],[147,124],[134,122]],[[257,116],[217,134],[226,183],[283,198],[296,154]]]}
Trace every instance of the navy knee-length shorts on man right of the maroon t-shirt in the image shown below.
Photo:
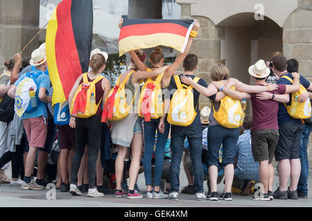
{"label": "navy knee-length shorts on man right of the maroon t-shirt", "polygon": [[302,130],[300,121],[279,124],[279,142],[275,148],[275,160],[300,159]]}

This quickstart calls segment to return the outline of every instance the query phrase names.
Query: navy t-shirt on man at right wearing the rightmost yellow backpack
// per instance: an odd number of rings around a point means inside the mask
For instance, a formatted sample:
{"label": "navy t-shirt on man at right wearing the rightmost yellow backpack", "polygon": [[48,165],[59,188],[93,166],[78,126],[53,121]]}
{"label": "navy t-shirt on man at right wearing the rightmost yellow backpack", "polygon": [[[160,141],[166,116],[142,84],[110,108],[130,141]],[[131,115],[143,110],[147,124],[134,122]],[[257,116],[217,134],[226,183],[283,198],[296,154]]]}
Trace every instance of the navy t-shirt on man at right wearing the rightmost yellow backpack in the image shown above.
{"label": "navy t-shirt on man at right wearing the rightmost yellow backpack", "polygon": [[[293,76],[291,76],[291,73],[287,73],[286,75],[282,75],[282,76],[288,76],[291,79],[293,79]],[[292,84],[291,81],[288,81],[288,79],[286,78],[282,78],[282,76],[277,81],[277,84],[286,84],[286,85]],[[306,80],[304,77],[302,77],[301,75],[300,75],[300,84],[304,86],[304,88],[306,89],[309,88],[310,86],[310,82]],[[289,94],[289,102],[287,103],[287,105],[291,105],[291,94]],[[291,121],[301,122],[300,119],[295,119],[288,114],[284,103],[279,103],[279,112],[277,113],[277,122],[279,124],[283,124],[283,123],[291,122]]]}

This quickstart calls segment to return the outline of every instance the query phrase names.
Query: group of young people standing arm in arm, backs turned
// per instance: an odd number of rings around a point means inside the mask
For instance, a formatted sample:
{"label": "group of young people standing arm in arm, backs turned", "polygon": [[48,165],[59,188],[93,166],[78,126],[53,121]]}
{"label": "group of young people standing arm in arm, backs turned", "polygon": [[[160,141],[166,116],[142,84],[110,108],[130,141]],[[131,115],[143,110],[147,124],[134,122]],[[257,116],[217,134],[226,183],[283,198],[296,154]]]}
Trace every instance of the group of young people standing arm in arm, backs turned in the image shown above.
{"label": "group of young people standing arm in arm, backs turned", "polygon": [[[122,23],[122,21],[121,21]],[[119,26],[121,26],[119,23]],[[90,71],[78,77],[71,88],[67,106],[70,109],[69,124],[55,126],[53,122],[53,108],[48,108],[51,103],[53,89],[49,79],[49,70],[46,65],[45,46],[40,46],[32,54],[30,66],[21,66],[21,55],[15,55],[15,59],[6,64],[8,69],[0,78],[1,97],[8,95],[15,99],[15,109],[18,103],[19,90],[23,86],[35,89],[37,97],[35,110],[24,111],[21,116],[15,114],[13,121],[22,122],[25,133],[21,132],[24,142],[28,142],[29,150],[24,154],[24,178],[19,179],[19,173],[12,174],[12,180],[21,184],[21,189],[44,189],[42,173],[46,164],[47,153],[51,151],[51,143],[48,140],[55,138],[56,127],[58,128],[58,139],[60,140],[60,156],[58,160],[59,180],[57,185],[62,191],[69,191],[72,195],[82,195],[81,184],[88,182],[87,195],[90,197],[102,197],[101,182],[103,181],[103,169],[99,163],[99,152],[103,145],[103,131],[110,133],[112,144],[118,148],[115,161],[116,175],[116,198],[127,197],[130,199],[142,198],[135,188],[140,168],[140,160],[144,148],[143,166],[146,181],[146,198],[177,200],[180,190],[180,162],[182,160],[184,140],[189,142],[189,151],[193,169],[193,185],[196,200],[232,200],[232,182],[234,179],[234,157],[236,144],[239,140],[239,126],[243,122],[242,111],[239,117],[236,109],[241,107],[239,100],[251,99],[252,102],[252,128],[251,144],[254,161],[259,162],[260,182],[263,184],[263,195],[253,200],[272,200],[273,198],[286,199],[297,198],[297,186],[300,177],[300,138],[302,135],[302,120],[295,119],[288,114],[286,106],[291,105],[291,93],[300,89],[300,84],[311,90],[312,86],[304,77],[298,75],[298,64],[291,60],[287,61],[283,55],[272,57],[272,68],[268,68],[263,60],[259,60],[250,66],[248,72],[254,78],[256,85],[243,84],[237,79],[230,78],[229,70],[224,64],[214,64],[211,67],[211,84],[204,79],[198,79],[194,74],[198,69],[198,57],[189,54],[193,39],[200,28],[196,21],[191,31],[187,46],[170,66],[164,66],[164,54],[160,47],[153,48],[149,55],[151,68],[146,66],[146,54],[141,50],[130,51],[131,63],[128,70],[119,76],[117,86],[112,88],[111,82],[103,76],[105,63],[108,55],[101,50],[93,50],[91,53],[89,67]],[[15,64],[14,64],[15,63]],[[184,73],[175,75],[175,71],[183,66]],[[23,69],[24,70],[21,70]],[[291,69],[289,69],[291,68]],[[289,69],[289,70],[288,70]],[[267,84],[266,79],[270,70],[279,78],[277,84]],[[17,74],[20,73],[20,74]],[[173,76],[175,75],[175,76]],[[33,79],[35,84],[29,83]],[[138,97],[149,99],[153,97],[153,89],[157,82],[162,90],[159,104],[162,106],[163,115],[151,117],[150,113],[131,111],[137,108]],[[23,85],[21,85],[23,84]],[[144,95],[141,95],[143,84],[148,84]],[[115,95],[120,87],[128,91],[125,102],[128,113],[123,119],[110,122],[110,96]],[[182,87],[192,89],[193,110],[196,115],[187,126],[169,124],[167,115],[174,93]],[[89,92],[89,90],[92,92]],[[132,96],[129,96],[131,94]],[[207,164],[209,170],[209,194],[206,195],[203,188],[204,166],[202,164],[202,122],[200,120],[199,97],[204,95],[211,101],[211,113],[209,115],[209,129],[207,132]],[[29,93],[31,95],[31,92]],[[89,99],[89,97],[90,99]],[[148,97],[150,96],[150,97]],[[225,126],[218,113],[228,106],[228,97],[238,104],[232,105],[234,113],[228,112],[229,122],[237,126]],[[29,102],[31,106],[33,97]],[[117,100],[114,97],[115,101]],[[309,92],[297,97],[298,102],[306,102]],[[119,97],[118,100],[122,101]],[[26,106],[27,107],[27,106]],[[24,107],[24,109],[26,109]],[[28,109],[28,108],[27,108]],[[83,115],[86,113],[87,115]],[[310,108],[311,110],[311,108]],[[18,111],[16,111],[18,113]],[[52,113],[51,113],[52,112]],[[108,112],[108,114],[107,114]],[[92,114],[89,114],[92,113]],[[55,113],[53,113],[55,115]],[[112,114],[112,113],[111,113]],[[104,117],[103,117],[104,115]],[[178,115],[182,115],[178,113]],[[310,112],[311,115],[311,112]],[[232,118],[231,118],[232,117]],[[110,118],[110,117],[108,117]],[[104,120],[103,120],[104,119]],[[232,120],[233,119],[233,120]],[[3,131],[10,124],[1,122]],[[2,129],[1,129],[2,130]],[[155,143],[155,134],[157,142]],[[164,164],[164,152],[168,143],[168,135],[171,137],[171,166],[170,184],[171,189],[166,195],[160,189],[162,180],[162,169]],[[19,135],[17,135],[18,137]],[[52,137],[52,138],[51,138]],[[7,140],[8,135],[1,133],[1,139]],[[19,150],[16,143],[15,151],[8,151],[0,159],[0,167],[12,160],[13,171],[19,171],[23,150]],[[224,167],[225,189],[218,195],[217,180],[220,146],[223,148],[222,166]],[[276,148],[275,148],[276,146]],[[131,164],[129,169],[128,193],[122,188],[124,162],[131,152]],[[37,155],[39,151],[39,154]],[[41,153],[41,154],[40,154]],[[151,160],[155,153],[155,178],[152,186]],[[19,164],[15,164],[19,157]],[[274,169],[272,160],[279,161],[279,188],[273,193],[272,185]],[[37,158],[38,172],[37,180],[32,180],[35,159]],[[87,158],[87,160],[86,160]],[[3,162],[3,163],[2,163]],[[14,166],[15,165],[15,166]],[[12,171],[12,172],[13,172]],[[86,172],[86,173],[85,173]],[[87,174],[85,176],[84,174]],[[287,189],[287,182],[291,177],[291,186]],[[101,181],[102,179],[102,181]],[[103,183],[102,183],[103,184]],[[299,190],[298,190],[299,191]],[[302,194],[305,194],[302,192]],[[306,193],[307,194],[307,193]]]}

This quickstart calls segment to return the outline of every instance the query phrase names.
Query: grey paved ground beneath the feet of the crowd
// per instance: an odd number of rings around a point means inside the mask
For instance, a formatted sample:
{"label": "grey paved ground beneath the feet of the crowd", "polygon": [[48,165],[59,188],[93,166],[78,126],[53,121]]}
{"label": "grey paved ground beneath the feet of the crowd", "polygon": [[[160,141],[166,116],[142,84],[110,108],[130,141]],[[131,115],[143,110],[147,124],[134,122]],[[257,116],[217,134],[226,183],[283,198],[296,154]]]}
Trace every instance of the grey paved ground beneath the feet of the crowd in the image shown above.
{"label": "grey paved ground beneath the feet of the crowd", "polygon": [[[10,171],[6,172],[7,175]],[[278,176],[275,176],[275,184],[278,182]],[[187,178],[181,167],[180,183],[182,186],[187,185]],[[299,200],[272,200],[270,202],[256,202],[250,200],[251,196],[232,195],[232,202],[211,202],[202,201],[197,202],[194,200],[195,195],[187,195],[180,193],[178,201],[173,200],[148,200],[146,199],[146,187],[144,186],[144,175],[139,175],[138,180],[139,188],[144,192],[144,199],[128,200],[126,198],[114,198],[114,195],[105,195],[104,198],[89,198],[87,195],[73,197],[70,193],[61,193],[56,191],[57,200],[46,200],[46,193],[48,190],[43,191],[23,191],[20,186],[10,186],[10,184],[1,184],[0,186],[0,206],[109,206],[109,207],[227,207],[227,206],[309,206],[312,207],[312,192],[309,193],[308,199]],[[207,183],[205,182],[205,192],[207,193]],[[312,171],[309,176],[309,186],[312,186]],[[274,189],[276,189],[274,187]],[[223,184],[218,185],[218,192],[223,191]]]}

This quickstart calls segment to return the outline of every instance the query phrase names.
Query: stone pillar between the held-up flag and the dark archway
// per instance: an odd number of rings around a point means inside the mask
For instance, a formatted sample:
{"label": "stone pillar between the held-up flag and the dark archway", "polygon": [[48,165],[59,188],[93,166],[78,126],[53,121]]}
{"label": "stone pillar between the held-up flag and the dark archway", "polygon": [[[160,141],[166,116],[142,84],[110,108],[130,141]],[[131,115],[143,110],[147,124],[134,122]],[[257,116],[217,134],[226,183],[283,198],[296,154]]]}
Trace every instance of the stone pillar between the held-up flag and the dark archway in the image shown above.
{"label": "stone pillar between the held-up flag and the dark archway", "polygon": [[[212,64],[225,61],[220,60],[221,39],[225,39],[225,28],[216,27],[215,24],[207,17],[192,16],[191,3],[197,3],[193,0],[179,0],[177,3],[181,6],[181,19],[198,19],[200,21],[200,29],[198,36],[193,41],[190,53],[198,55],[198,70],[196,76],[205,79],[207,83],[211,82],[209,70]],[[179,69],[183,71],[182,66]],[[200,95],[200,109],[204,106],[210,107],[207,97]]]}

